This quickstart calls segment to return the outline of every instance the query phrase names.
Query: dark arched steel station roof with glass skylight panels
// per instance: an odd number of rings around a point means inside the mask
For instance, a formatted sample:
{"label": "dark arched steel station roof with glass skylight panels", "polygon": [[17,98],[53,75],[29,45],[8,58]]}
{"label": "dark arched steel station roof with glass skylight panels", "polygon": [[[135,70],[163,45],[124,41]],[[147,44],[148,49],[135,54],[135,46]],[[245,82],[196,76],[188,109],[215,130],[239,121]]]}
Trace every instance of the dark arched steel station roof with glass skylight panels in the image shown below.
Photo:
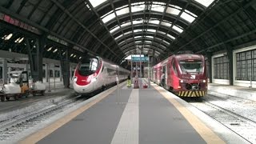
{"label": "dark arched steel station roof with glass skylight panels", "polygon": [[92,54],[117,63],[139,53],[206,54],[255,42],[255,32],[255,0],[0,1],[0,50],[25,53],[23,39],[35,35],[49,40],[50,58],[58,47],[69,48],[70,58]]}

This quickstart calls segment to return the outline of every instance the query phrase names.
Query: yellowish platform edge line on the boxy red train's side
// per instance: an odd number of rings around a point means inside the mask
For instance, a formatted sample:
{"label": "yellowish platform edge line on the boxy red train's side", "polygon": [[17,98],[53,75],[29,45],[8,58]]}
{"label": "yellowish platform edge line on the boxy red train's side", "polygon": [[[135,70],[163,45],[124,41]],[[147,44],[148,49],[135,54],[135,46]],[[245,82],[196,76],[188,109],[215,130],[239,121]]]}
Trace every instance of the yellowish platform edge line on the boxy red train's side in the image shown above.
{"label": "yellowish platform edge line on the boxy red train's side", "polygon": [[154,86],[154,88],[158,90],[158,92],[162,94],[170,103],[172,103],[176,109],[178,109],[178,111],[186,118],[188,122],[190,122],[190,125],[194,127],[194,129],[198,132],[198,134],[201,135],[206,143],[226,143],[221,138],[219,138],[218,135],[214,133],[214,131],[210,130],[208,126],[206,126],[200,119],[198,119],[198,117],[192,114],[190,110],[187,110],[185,106],[182,106],[181,103],[172,98],[167,91],[163,91],[158,86]]}

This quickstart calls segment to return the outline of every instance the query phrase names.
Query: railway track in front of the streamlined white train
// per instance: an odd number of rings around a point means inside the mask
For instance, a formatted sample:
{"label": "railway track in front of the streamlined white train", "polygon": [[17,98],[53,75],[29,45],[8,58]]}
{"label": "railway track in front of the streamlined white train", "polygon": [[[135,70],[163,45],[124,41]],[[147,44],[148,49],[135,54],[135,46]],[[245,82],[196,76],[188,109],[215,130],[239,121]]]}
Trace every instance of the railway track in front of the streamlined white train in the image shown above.
{"label": "railway track in front of the streamlined white train", "polygon": [[0,122],[0,143],[8,141],[15,135],[33,126],[37,126],[39,123],[54,117],[56,114],[62,113],[84,100],[85,98],[79,96],[68,98],[62,102],[53,103],[43,110],[35,110],[30,114],[17,115],[14,118],[8,118]]}

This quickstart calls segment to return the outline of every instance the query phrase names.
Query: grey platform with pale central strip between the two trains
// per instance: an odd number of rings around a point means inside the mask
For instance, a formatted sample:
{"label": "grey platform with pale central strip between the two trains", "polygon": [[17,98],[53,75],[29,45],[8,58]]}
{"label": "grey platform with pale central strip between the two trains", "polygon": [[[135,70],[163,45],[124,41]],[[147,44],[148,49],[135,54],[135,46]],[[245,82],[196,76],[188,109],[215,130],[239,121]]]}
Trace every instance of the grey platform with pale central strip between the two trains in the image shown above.
{"label": "grey platform with pale central strip between the two trains", "polygon": [[126,82],[88,99],[20,143],[246,143],[189,103],[151,82]]}

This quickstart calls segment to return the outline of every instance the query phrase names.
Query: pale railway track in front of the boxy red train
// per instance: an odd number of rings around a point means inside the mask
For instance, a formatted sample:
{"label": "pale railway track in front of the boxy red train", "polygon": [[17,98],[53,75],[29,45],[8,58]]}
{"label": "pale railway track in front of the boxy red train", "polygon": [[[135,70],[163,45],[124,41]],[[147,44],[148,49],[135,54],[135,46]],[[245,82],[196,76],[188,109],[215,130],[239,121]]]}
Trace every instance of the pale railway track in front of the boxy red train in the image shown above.
{"label": "pale railway track in front of the boxy red train", "polygon": [[256,107],[253,108],[252,104],[245,106],[235,101],[224,101],[223,98],[210,95],[207,97],[202,99],[202,102],[190,102],[190,104],[234,131],[247,142],[256,143],[256,121],[254,116],[250,117],[250,115],[243,113],[248,109],[256,110]]}

